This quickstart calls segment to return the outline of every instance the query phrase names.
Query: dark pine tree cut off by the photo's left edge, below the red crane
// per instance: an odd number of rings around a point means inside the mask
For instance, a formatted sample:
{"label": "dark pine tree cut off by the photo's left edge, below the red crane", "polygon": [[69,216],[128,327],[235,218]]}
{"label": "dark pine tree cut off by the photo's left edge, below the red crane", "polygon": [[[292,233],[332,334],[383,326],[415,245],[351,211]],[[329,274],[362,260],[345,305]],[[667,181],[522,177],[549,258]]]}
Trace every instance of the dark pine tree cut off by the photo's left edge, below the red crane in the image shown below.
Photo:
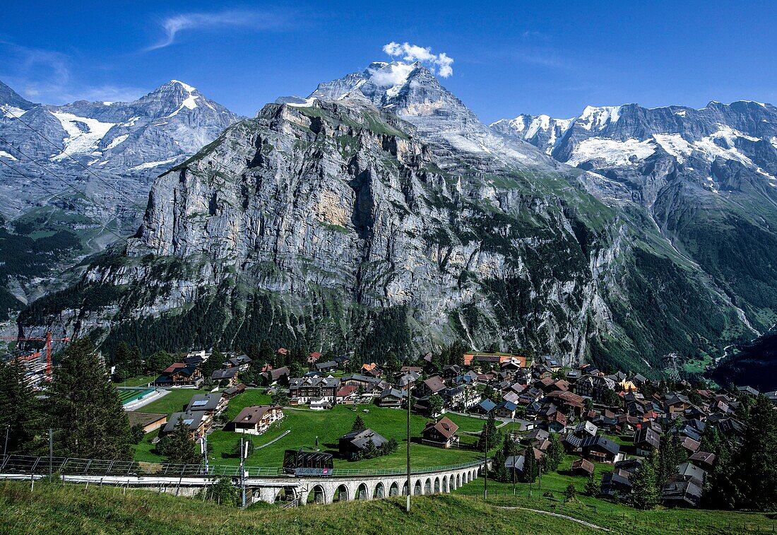
{"label": "dark pine tree cut off by the photo's left edge, below the red crane", "polygon": [[35,393],[24,380],[24,365],[0,361],[0,440],[5,447],[7,431],[8,453],[33,453],[36,449],[38,408]]}

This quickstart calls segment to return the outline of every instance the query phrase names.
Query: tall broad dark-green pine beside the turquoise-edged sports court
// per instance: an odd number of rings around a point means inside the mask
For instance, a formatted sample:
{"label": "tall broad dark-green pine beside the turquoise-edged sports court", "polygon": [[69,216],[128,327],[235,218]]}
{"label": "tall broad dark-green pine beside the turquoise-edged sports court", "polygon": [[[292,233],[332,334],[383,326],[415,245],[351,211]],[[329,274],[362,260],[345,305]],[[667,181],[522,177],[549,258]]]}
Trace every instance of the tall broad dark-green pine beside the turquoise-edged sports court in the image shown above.
{"label": "tall broad dark-green pine beside the turquoise-edged sports court", "polygon": [[132,433],[116,387],[106,379],[92,341],[78,338],[54,368],[47,401],[58,456],[131,459]]}

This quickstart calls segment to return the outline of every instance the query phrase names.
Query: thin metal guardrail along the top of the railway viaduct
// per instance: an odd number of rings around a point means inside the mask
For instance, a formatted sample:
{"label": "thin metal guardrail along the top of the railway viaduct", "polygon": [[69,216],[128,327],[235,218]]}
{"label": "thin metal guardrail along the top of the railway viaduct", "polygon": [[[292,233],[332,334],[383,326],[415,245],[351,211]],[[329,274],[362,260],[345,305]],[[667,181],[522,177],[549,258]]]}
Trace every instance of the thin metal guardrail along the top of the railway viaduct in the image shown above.
{"label": "thin metal guardrail along the top of the railway viaduct", "polygon": [[[430,474],[462,468],[474,468],[483,464],[461,463],[438,467],[417,467],[413,474]],[[127,460],[75,459],[73,457],[36,457],[5,455],[0,457],[0,474],[104,474],[125,476],[177,476],[177,477],[230,477],[239,476],[240,467],[233,465],[146,463]],[[287,477],[280,467],[245,467],[248,477]],[[387,470],[360,470],[334,468],[333,477],[374,477],[407,474],[403,468]]]}

